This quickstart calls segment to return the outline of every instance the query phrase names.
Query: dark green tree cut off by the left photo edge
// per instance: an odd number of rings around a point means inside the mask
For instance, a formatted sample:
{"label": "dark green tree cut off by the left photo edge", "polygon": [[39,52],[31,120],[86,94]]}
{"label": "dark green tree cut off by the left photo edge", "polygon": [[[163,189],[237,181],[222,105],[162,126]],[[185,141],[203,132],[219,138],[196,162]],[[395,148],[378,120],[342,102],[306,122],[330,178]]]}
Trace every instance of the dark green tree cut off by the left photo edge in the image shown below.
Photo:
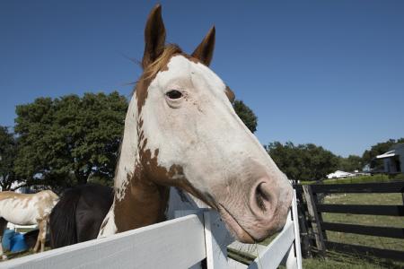
{"label": "dark green tree cut off by the left photo edge", "polygon": [[18,181],[14,172],[17,142],[13,133],[5,126],[0,126],[0,186],[10,190],[14,181]]}

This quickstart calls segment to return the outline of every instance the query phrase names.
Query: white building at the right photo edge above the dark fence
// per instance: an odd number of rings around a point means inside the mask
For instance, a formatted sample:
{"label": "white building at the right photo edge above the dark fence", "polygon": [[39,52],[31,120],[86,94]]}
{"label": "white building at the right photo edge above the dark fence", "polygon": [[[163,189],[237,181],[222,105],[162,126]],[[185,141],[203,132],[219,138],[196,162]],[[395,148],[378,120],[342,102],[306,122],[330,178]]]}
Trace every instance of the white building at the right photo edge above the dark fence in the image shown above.
{"label": "white building at the right photo edge above the dark fence", "polygon": [[384,152],[381,155],[377,155],[375,159],[383,161],[383,173],[404,173],[404,143],[393,145],[389,152]]}

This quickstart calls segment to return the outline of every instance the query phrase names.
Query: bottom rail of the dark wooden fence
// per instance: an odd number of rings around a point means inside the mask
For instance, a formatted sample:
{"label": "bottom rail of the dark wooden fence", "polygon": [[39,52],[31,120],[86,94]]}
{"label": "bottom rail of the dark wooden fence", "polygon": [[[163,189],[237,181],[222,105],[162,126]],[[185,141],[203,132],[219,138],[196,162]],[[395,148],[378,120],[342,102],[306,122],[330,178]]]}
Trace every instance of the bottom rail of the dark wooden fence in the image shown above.
{"label": "bottom rail of the dark wooden fence", "polygon": [[387,259],[404,261],[404,251],[382,249],[376,247],[364,247],[358,245],[342,244],[338,242],[325,241],[327,249],[354,255],[372,255]]}

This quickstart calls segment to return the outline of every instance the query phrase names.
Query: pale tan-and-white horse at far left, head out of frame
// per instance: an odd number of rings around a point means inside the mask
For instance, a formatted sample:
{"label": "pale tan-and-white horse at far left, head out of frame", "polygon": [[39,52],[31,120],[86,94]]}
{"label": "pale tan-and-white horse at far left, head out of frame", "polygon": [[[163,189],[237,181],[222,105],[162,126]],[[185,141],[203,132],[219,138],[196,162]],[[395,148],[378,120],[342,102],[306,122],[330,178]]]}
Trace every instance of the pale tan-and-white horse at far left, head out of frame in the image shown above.
{"label": "pale tan-and-white horse at far left, head out of frame", "polygon": [[[18,225],[34,225],[40,228],[34,251],[44,250],[48,216],[57,204],[58,196],[50,190],[37,194],[18,194],[14,192],[0,192],[0,241],[3,238],[7,222]],[[0,244],[0,255],[4,259],[3,247]]]}

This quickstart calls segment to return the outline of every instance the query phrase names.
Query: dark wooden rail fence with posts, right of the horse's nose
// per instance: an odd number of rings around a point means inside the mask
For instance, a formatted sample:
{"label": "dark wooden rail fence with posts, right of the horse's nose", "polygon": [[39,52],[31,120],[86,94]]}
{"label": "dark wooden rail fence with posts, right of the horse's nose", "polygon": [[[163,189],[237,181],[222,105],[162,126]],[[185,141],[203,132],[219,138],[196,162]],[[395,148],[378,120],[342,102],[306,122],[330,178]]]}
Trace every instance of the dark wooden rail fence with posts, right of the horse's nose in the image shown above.
{"label": "dark wooden rail fence with posts, right of the horse's nose", "polygon": [[[404,239],[404,228],[380,227],[360,224],[336,223],[322,220],[321,213],[349,213],[380,216],[404,216],[404,205],[369,205],[369,204],[321,204],[320,195],[324,194],[383,194],[399,193],[404,202],[404,181],[388,183],[364,184],[332,184],[332,185],[295,185],[300,200],[299,211],[301,221],[302,249],[308,253],[314,247],[324,255],[326,249],[345,253],[373,255],[404,261],[404,251],[366,247],[329,241],[326,231],[338,231],[366,236]],[[303,199],[304,197],[304,199]],[[388,223],[387,223],[388,224]],[[404,241],[403,241],[404,242]]]}

